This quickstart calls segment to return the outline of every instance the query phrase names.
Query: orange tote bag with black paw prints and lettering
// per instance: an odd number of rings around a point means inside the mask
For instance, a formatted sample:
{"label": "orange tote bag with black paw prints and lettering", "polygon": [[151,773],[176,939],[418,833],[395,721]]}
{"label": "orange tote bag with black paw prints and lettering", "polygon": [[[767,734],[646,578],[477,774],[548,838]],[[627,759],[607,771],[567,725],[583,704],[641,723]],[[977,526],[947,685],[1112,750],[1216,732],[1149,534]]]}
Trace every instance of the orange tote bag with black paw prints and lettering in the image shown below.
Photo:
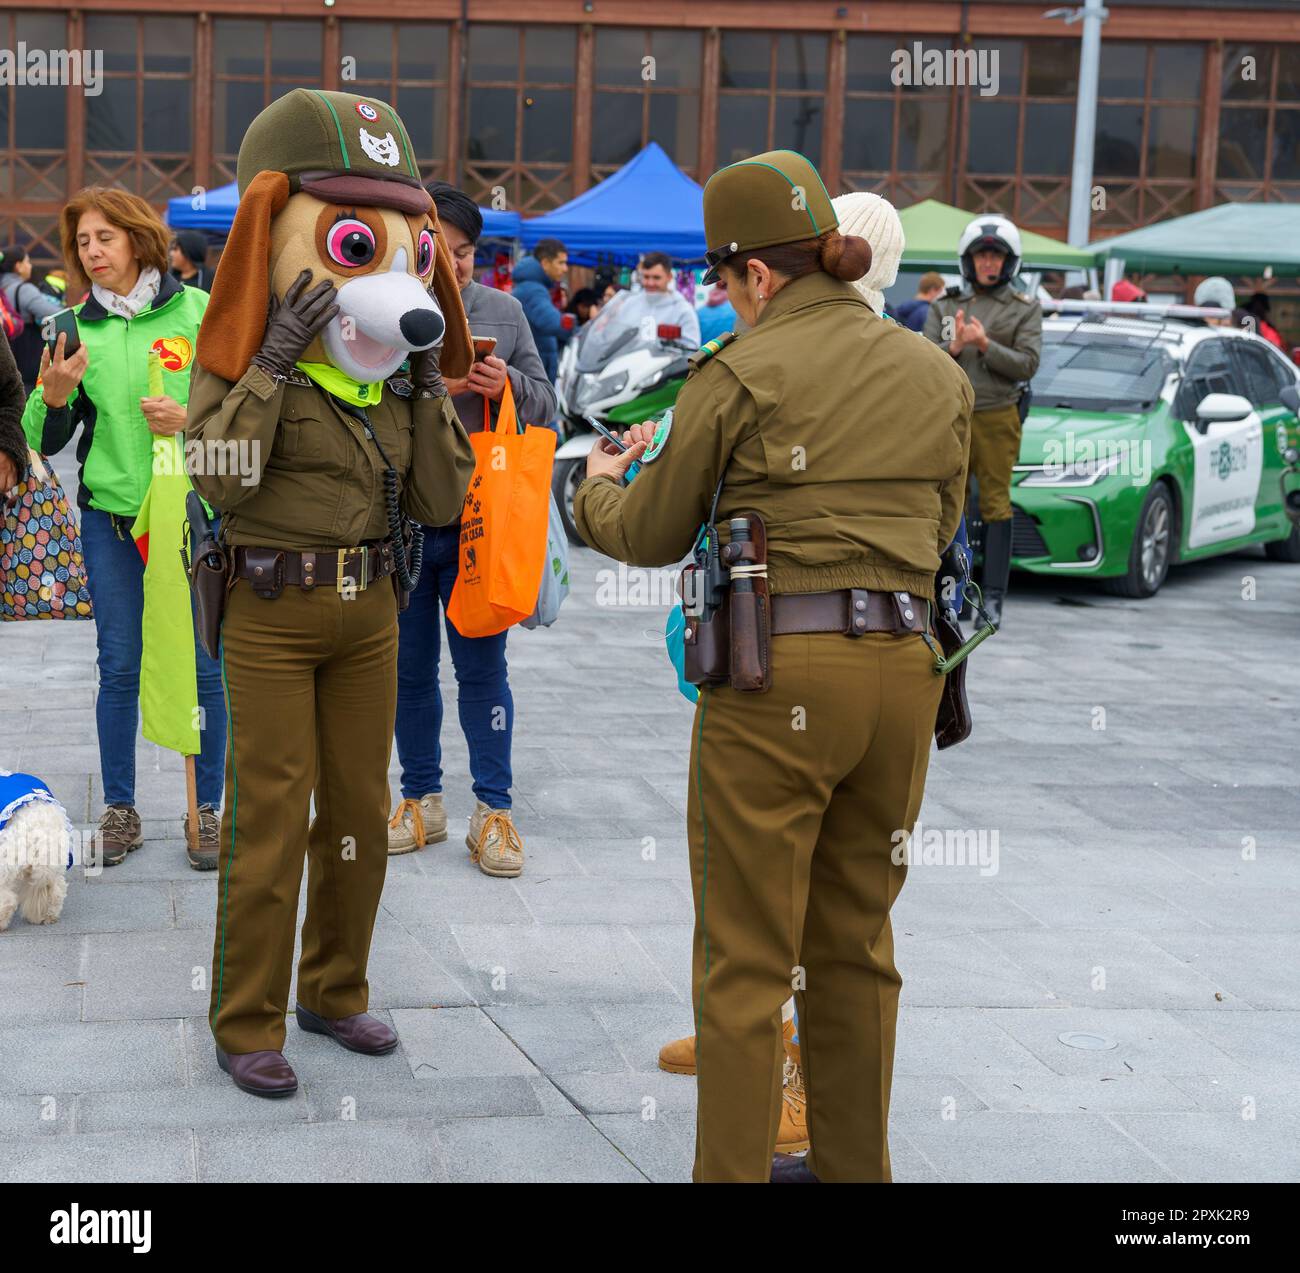
{"label": "orange tote bag with black paw prints and lettering", "polygon": [[471,433],[474,476],[460,510],[460,568],[447,618],[462,636],[495,636],[537,606],[546,564],[555,433],[519,432],[510,381],[497,427],[484,399],[484,430]]}

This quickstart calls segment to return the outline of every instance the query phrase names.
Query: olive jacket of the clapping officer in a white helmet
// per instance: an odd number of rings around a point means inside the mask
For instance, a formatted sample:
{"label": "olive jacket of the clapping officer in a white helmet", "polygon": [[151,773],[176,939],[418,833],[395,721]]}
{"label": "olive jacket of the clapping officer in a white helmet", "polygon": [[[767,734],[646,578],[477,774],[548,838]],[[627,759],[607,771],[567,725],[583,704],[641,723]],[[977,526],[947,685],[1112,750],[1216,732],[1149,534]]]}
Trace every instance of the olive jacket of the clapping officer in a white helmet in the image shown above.
{"label": "olive jacket of the clapping officer in a white helmet", "polygon": [[[949,293],[953,289],[949,289]],[[957,317],[961,309],[967,319],[979,319],[988,333],[988,350],[982,352],[967,345],[957,361],[975,386],[975,410],[1005,407],[1020,397],[1020,385],[1034,378],[1043,352],[1043,307],[1010,283],[988,291],[963,287],[957,295],[945,293],[931,302],[926,319],[926,335],[948,347],[944,319]]]}

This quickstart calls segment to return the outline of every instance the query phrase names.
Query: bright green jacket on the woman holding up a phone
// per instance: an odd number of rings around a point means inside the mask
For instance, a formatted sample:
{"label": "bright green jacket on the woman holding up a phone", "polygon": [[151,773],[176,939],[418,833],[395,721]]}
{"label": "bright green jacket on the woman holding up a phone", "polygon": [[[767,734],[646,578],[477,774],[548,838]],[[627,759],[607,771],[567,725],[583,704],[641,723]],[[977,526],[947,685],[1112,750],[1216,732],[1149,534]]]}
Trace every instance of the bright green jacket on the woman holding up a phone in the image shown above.
{"label": "bright green jacket on the woman holding up a phone", "polygon": [[185,404],[208,294],[161,274],[153,304],[129,322],[94,296],[74,308],[77,330],[90,351],[81,385],[58,408],[47,408],[40,389],[27,399],[22,427],[43,455],[61,451],[82,427],[77,443],[81,488],[77,503],[134,518],[153,479],[153,434],[140,398],[148,397],[148,354],[162,360],[162,391]]}

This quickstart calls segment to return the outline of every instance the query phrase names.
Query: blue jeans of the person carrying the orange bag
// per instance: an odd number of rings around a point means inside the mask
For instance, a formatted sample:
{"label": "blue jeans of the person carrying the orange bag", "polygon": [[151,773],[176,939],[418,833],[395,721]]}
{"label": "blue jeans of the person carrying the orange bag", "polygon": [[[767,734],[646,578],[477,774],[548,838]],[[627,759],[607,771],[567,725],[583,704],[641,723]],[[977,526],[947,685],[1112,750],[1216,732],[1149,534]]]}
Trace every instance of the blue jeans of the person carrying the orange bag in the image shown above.
{"label": "blue jeans of the person carrying the orange bag", "polygon": [[[459,562],[460,524],[425,527],[420,583],[411,605],[398,615],[396,742],[407,800],[442,791],[438,612],[439,606],[446,611]],[[489,809],[510,809],[515,700],[506,679],[506,633],[465,637],[450,619],[446,624],[474,796]]]}

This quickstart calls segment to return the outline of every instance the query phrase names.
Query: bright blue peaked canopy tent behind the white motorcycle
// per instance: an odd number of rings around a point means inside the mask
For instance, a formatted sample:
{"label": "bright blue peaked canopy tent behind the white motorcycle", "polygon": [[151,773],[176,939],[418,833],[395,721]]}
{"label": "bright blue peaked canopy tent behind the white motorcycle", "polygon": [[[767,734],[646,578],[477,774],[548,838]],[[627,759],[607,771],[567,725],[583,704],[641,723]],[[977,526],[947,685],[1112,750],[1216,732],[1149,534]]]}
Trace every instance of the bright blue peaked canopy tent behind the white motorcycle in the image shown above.
{"label": "bright blue peaked canopy tent behind the white motorcycle", "polygon": [[525,247],[559,239],[573,264],[636,264],[642,252],[667,252],[677,261],[705,255],[705,191],[668,157],[658,142],[628,160],[599,185],[552,212],[528,217]]}

